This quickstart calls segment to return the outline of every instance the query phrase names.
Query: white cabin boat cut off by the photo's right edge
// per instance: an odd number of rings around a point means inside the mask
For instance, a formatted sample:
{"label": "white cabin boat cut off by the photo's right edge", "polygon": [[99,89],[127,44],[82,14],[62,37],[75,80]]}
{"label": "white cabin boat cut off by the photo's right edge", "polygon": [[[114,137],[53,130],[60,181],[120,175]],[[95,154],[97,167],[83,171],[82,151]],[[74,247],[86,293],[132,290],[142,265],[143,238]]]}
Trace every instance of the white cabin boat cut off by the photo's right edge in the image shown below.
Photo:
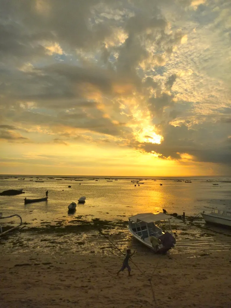
{"label": "white cabin boat cut off by the photo's right edge", "polygon": [[231,227],[231,210],[213,209],[211,213],[201,213],[207,223]]}

